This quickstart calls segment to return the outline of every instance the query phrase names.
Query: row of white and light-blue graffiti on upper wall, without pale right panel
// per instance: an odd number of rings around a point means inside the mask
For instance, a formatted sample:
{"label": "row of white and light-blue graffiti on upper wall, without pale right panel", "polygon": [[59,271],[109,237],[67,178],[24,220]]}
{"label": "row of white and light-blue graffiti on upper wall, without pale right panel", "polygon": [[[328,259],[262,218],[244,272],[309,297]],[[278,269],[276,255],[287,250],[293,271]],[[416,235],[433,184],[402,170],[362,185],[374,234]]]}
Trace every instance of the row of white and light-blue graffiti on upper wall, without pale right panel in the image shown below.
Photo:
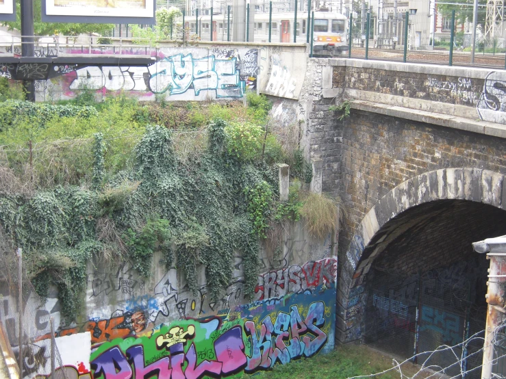
{"label": "row of white and light-blue graffiti on upper wall, without pale right panel", "polygon": [[[131,91],[140,99],[155,94],[170,100],[233,99],[257,85],[257,49],[161,49],[149,66],[54,67],[51,79],[38,81],[38,99],[71,98],[80,90],[107,94]],[[47,99],[46,99],[47,100]]]}

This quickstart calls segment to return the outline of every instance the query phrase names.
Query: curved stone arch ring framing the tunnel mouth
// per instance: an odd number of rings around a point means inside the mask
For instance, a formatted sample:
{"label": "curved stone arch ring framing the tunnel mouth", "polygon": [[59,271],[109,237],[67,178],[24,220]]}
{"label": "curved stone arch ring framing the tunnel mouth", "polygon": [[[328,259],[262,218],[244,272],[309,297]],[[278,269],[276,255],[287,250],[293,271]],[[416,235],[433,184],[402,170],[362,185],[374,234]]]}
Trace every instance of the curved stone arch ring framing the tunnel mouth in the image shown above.
{"label": "curved stone arch ring framing the tunnel mouth", "polygon": [[[362,283],[372,262],[385,248],[387,235],[378,233],[404,211],[438,200],[470,200],[506,210],[503,174],[478,168],[444,168],[409,179],[374,205],[355,229],[339,277],[336,337],[340,342],[362,337],[360,328]],[[383,246],[383,247],[382,247]]]}

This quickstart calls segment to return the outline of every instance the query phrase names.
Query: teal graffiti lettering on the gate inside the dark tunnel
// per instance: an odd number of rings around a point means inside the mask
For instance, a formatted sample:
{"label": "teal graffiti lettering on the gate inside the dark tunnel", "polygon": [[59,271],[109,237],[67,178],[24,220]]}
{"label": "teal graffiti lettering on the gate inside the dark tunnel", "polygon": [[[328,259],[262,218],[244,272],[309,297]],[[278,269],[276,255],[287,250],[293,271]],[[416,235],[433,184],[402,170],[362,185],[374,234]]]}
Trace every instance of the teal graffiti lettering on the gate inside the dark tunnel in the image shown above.
{"label": "teal graffiti lettering on the gate inside the dark tunnel", "polygon": [[422,305],[420,332],[433,330],[442,335],[443,343],[456,345],[462,341],[462,322],[458,315]]}

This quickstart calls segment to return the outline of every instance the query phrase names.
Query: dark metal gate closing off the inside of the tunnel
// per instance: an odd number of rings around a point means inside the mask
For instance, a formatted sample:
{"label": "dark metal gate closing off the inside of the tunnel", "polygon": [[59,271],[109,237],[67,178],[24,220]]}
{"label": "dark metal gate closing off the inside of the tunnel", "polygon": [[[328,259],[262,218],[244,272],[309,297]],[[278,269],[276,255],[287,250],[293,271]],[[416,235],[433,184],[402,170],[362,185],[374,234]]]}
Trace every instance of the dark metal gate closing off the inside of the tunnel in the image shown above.
{"label": "dark metal gate closing off the inside of the tunnel", "polygon": [[475,304],[478,276],[448,276],[444,270],[402,277],[372,269],[366,343],[405,359],[415,356],[414,363],[444,369],[449,376],[463,372],[466,378],[480,378],[483,339],[462,343],[479,332],[477,337],[483,337],[485,329],[486,307]]}

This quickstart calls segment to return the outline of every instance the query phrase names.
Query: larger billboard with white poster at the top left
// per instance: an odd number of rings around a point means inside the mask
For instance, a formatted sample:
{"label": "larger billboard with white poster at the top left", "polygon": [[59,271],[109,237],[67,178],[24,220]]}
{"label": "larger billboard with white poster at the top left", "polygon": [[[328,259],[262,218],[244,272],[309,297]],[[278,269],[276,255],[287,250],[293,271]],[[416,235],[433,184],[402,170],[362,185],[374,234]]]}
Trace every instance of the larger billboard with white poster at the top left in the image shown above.
{"label": "larger billboard with white poster at the top left", "polygon": [[42,0],[42,21],[152,25],[155,9],[155,0]]}

